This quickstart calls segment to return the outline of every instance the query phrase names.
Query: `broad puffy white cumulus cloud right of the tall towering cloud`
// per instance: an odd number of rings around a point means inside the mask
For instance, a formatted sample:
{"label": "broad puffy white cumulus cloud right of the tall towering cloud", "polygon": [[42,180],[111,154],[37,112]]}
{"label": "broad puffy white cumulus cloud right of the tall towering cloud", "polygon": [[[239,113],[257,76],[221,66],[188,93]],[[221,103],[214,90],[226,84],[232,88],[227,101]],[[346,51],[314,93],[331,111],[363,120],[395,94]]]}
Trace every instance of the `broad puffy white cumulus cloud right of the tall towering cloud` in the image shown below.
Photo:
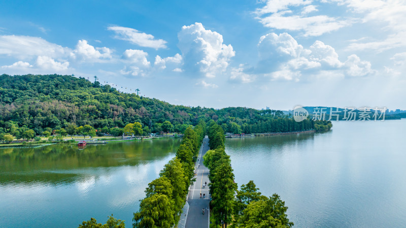
{"label": "broad puffy white cumulus cloud right of the tall towering cloud", "polygon": [[355,54],[342,62],[333,47],[315,41],[309,49],[306,49],[286,32],[262,36],[258,50],[260,61],[256,73],[263,73],[272,80],[298,81],[303,71],[307,72],[306,75],[318,78],[325,75],[327,70],[335,71],[334,75],[350,77],[366,76],[376,72],[371,69],[369,61],[361,60]]}

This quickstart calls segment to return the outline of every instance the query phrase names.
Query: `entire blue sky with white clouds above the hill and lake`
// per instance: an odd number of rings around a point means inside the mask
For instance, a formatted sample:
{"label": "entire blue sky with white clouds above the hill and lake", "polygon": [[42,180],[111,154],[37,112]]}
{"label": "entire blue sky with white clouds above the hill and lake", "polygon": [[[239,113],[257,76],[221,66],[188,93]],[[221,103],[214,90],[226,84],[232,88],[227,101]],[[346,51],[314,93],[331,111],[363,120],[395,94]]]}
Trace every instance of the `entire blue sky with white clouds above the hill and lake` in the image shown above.
{"label": "entire blue sky with white clouds above the hill and lake", "polygon": [[213,108],[406,109],[405,1],[1,6],[0,74],[96,75],[120,91]]}

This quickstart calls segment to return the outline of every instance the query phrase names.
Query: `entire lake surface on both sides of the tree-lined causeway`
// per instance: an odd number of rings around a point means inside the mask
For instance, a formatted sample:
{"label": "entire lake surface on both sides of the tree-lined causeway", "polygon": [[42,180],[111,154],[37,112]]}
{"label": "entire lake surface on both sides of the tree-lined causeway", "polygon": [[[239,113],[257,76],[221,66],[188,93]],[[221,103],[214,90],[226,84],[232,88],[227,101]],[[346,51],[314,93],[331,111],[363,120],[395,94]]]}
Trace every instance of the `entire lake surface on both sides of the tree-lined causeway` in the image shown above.
{"label": "entire lake surface on both sides of the tree-lined causeway", "polygon": [[[406,227],[406,120],[323,134],[227,139],[235,181],[278,193],[294,227]],[[0,149],[0,227],[126,220],[180,140]]]}

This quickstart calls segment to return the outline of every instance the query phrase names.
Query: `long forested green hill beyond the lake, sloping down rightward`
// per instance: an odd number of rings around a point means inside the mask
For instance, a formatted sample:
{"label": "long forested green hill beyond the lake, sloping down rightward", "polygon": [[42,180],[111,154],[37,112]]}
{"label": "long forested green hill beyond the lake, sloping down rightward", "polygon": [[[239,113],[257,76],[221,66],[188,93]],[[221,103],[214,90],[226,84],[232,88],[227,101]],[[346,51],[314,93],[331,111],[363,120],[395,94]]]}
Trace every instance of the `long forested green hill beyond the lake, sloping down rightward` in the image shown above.
{"label": "long forested green hill beyond the lake, sloping down rightward", "polygon": [[111,128],[133,122],[149,126],[150,121],[152,132],[158,132],[165,120],[174,125],[174,131],[182,132],[200,119],[206,122],[213,119],[226,132],[233,133],[300,131],[314,127],[313,121],[296,123],[281,111],[171,105],[67,75],[0,76],[0,133],[10,131],[12,125],[33,129],[40,135],[47,127],[59,129],[67,123]]}

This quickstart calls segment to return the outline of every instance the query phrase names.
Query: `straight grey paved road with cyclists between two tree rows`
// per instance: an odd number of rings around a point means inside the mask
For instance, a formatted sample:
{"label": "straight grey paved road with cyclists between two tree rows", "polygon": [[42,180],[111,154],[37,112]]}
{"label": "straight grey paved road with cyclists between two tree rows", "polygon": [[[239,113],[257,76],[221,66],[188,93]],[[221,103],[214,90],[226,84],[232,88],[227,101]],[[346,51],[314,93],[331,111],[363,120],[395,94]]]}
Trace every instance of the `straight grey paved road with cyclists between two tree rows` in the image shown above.
{"label": "straight grey paved road with cyclists between two tree rows", "polygon": [[[209,150],[209,138],[203,139],[196,162],[195,176],[196,182],[189,188],[189,212],[186,220],[186,228],[208,228],[209,227],[209,188],[205,186],[205,182],[209,184],[209,169],[203,165],[202,156]],[[201,198],[200,198],[201,193]],[[205,194],[205,197],[203,196]],[[202,214],[202,209],[205,208],[205,214]]]}

